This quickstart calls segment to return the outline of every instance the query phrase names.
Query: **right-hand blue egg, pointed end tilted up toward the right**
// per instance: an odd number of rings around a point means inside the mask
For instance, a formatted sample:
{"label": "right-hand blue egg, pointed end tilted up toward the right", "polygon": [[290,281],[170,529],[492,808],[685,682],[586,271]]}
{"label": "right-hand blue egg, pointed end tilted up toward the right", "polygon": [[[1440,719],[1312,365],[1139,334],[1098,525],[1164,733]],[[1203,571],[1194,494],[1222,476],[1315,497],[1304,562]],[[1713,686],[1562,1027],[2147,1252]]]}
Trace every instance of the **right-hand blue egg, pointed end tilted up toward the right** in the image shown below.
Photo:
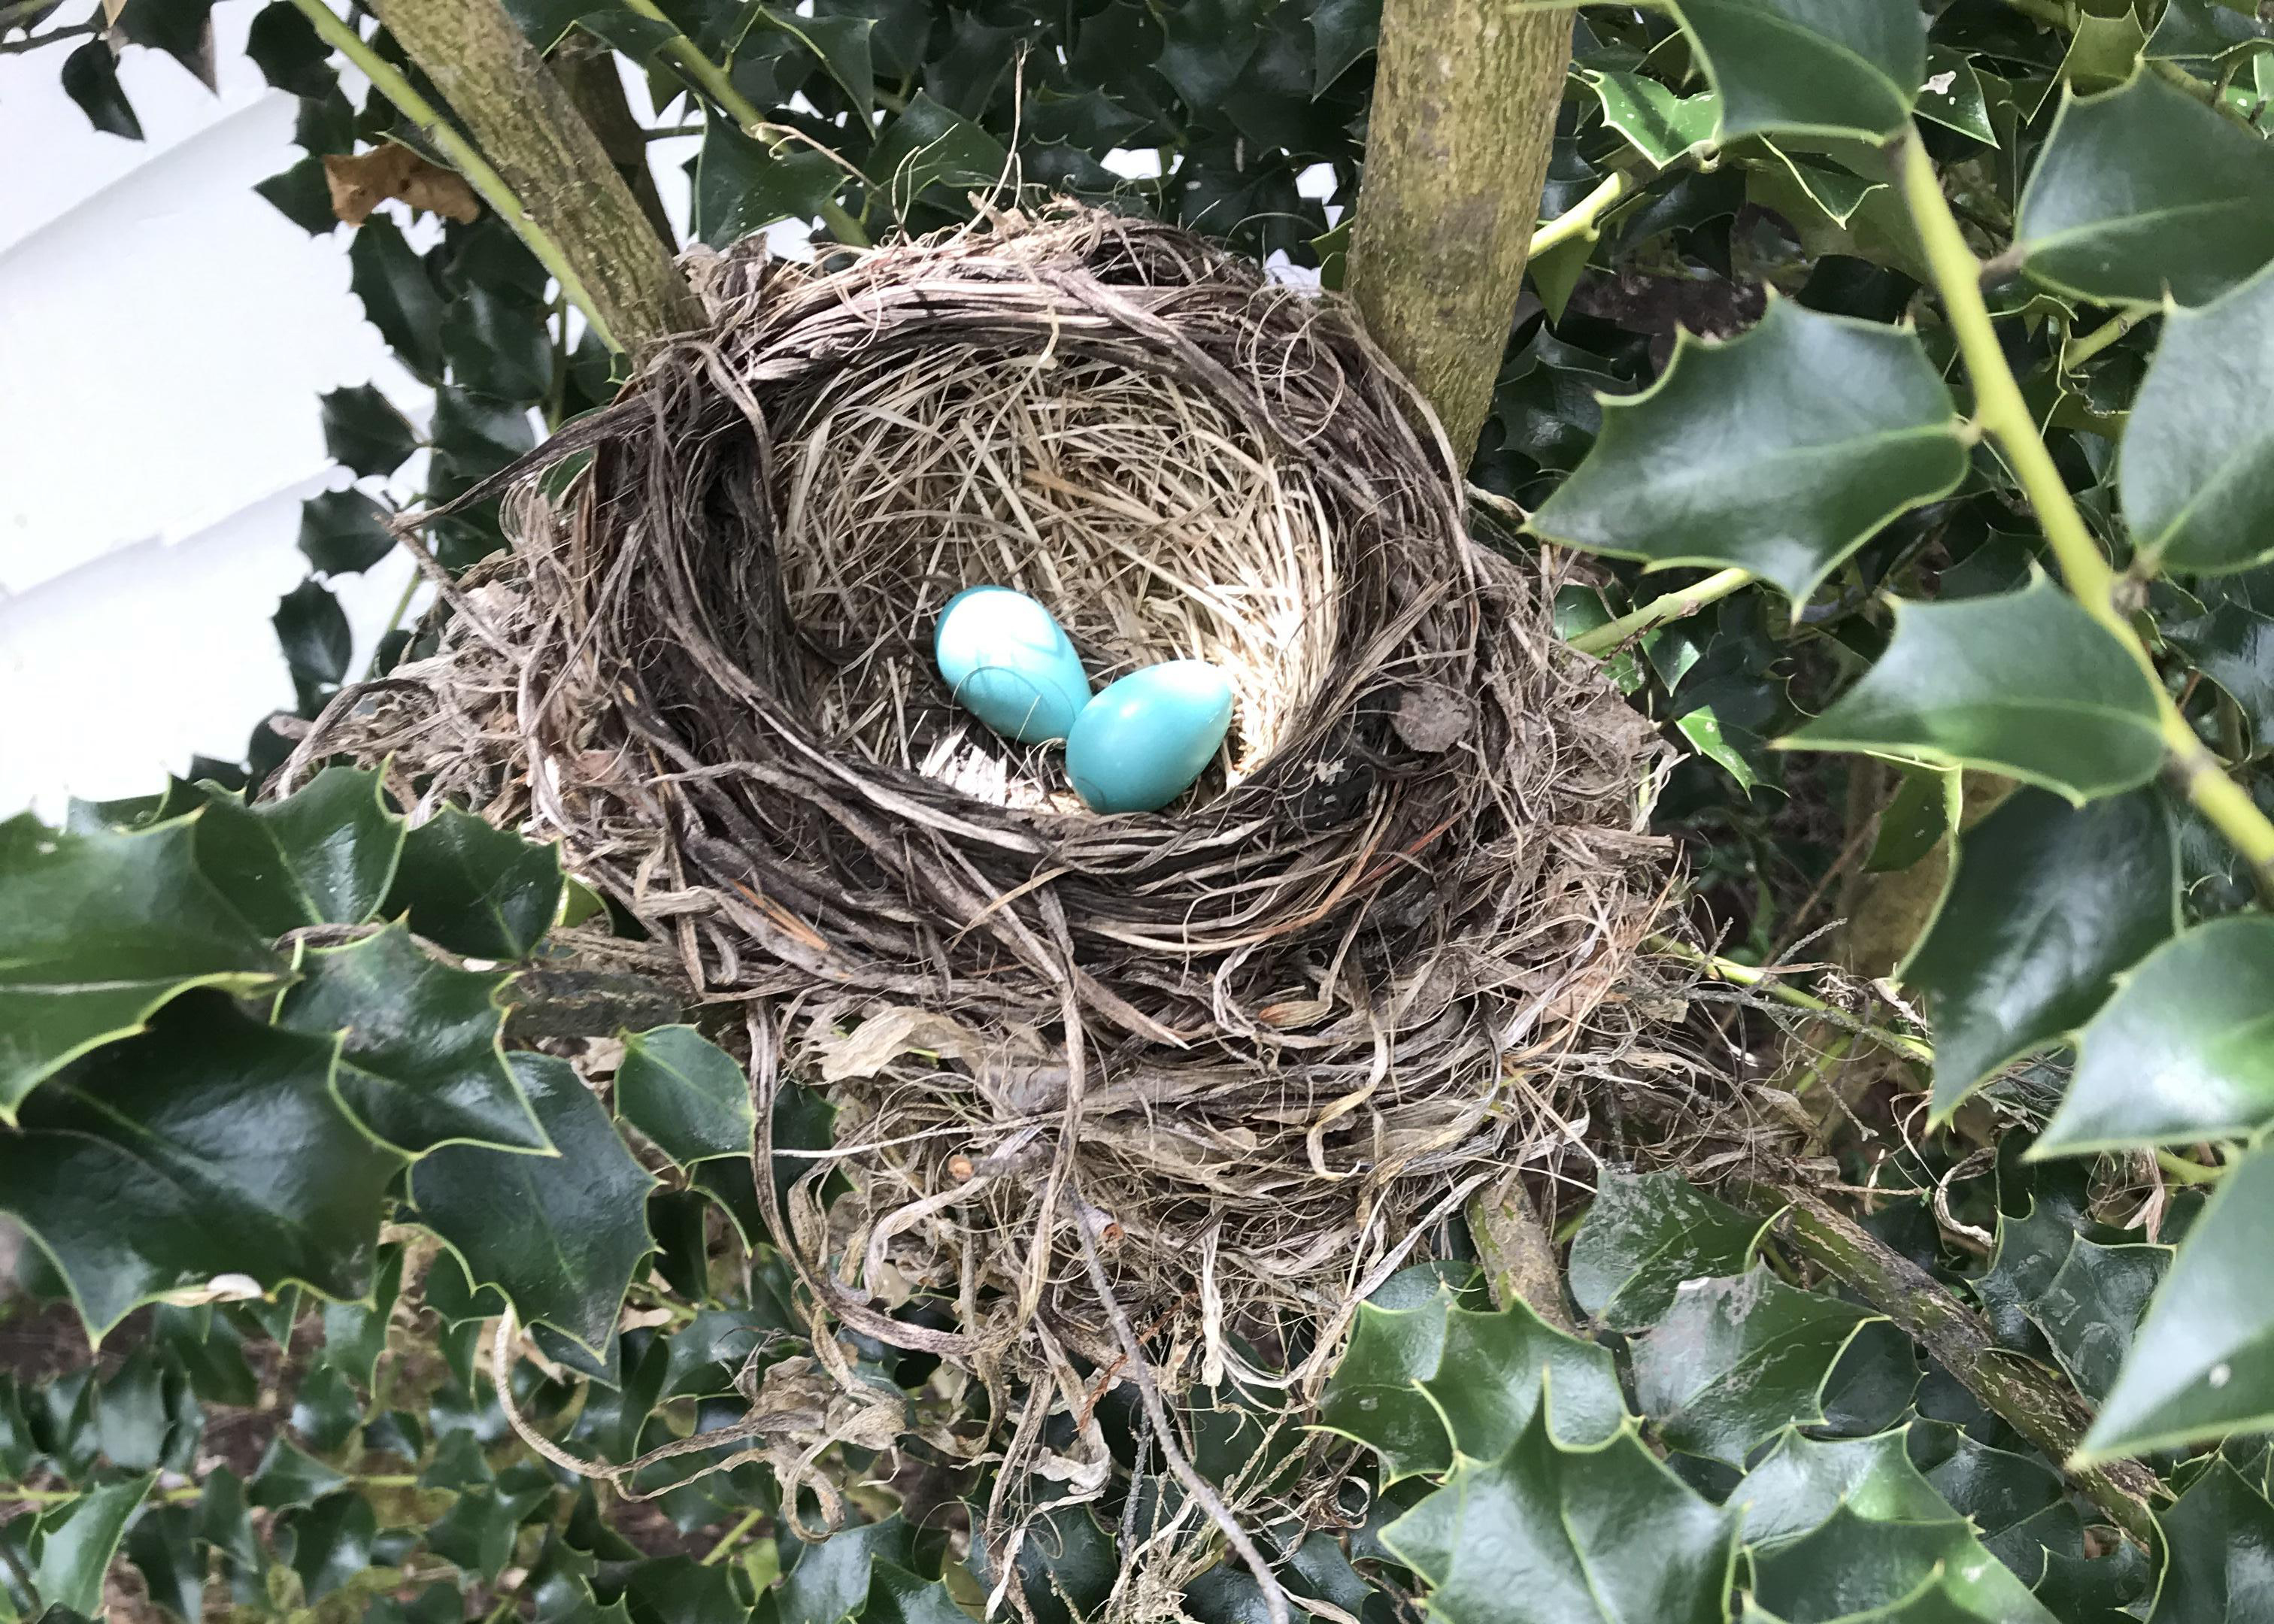
{"label": "right-hand blue egg, pointed end tilted up toward the right", "polygon": [[1107,685],[1067,735],[1067,778],[1092,812],[1153,812],[1201,776],[1233,726],[1233,685],[1169,660]]}

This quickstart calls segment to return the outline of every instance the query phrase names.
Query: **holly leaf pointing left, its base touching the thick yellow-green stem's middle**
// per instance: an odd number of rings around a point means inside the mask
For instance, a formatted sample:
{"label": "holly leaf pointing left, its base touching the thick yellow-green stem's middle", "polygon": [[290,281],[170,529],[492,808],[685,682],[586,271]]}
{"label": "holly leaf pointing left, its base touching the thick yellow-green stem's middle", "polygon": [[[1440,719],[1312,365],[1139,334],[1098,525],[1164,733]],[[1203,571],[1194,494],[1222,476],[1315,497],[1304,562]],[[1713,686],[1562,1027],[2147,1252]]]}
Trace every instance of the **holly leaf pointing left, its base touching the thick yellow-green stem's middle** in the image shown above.
{"label": "holly leaf pointing left, its base touching the thick yellow-green stem's middle", "polygon": [[1994,598],[1897,600],[1887,653],[1785,744],[1987,767],[2072,801],[2163,767],[2147,673],[2042,578]]}

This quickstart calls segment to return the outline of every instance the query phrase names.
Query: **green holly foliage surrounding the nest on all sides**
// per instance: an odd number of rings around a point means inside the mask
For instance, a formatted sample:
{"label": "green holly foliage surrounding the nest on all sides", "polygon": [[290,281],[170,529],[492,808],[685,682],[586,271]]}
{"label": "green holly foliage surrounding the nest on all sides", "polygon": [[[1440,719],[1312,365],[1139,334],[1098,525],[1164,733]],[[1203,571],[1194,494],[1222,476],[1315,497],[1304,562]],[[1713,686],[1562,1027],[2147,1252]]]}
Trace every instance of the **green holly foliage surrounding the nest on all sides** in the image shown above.
{"label": "green holly foliage surrounding the nest on all sides", "polygon": [[[1364,0],[509,9],[700,121],[712,243],[951,223],[1012,157],[1328,284],[1348,225],[1296,177],[1328,164],[1362,212]],[[132,139],[114,50],[196,64],[205,7],[77,11],[0,7],[0,48],[52,41],[91,123]],[[307,157],[262,191],[307,230],[337,230],[325,155],[423,150],[341,91],[296,5],[252,55],[302,98]],[[1799,1010],[1731,1010],[1767,1055],[1749,1080],[1799,1099],[1922,1290],[2092,1422],[2081,1458],[2019,1431],[1872,1278],[1796,1244],[1774,1190],[1605,1167],[1560,1235],[1585,1335],[1494,1308],[1458,1233],[1362,1310],[1319,1410],[1346,1526],[1260,1531],[1301,1610],[2274,1617],[2269,93],[2274,27],[2222,0],[1578,11],[1471,478],[1530,514],[1503,541],[1603,560],[1560,619],[1685,744],[1658,817],[1721,939],[1706,973]],[[1164,177],[1117,180],[1114,148]],[[496,216],[418,252],[382,212],[350,252],[437,387],[430,500],[607,398],[619,362],[571,341]],[[321,412],[366,480],[421,446],[368,387]],[[312,575],[277,607],[302,716],[357,676],[327,582],[387,555],[387,519],[362,491],[307,505]],[[434,535],[450,569],[500,541],[493,514]],[[371,773],[248,803],[282,751],[262,728],[241,769],[68,830],[0,823],[0,1210],[36,1242],[0,1315],[100,1342],[0,1376],[0,1619],[146,1597],[186,1624],[953,1624],[989,1560],[1035,1619],[1101,1608],[1126,1531],[1178,1494],[1126,1387],[1098,1406],[1112,1483],[1014,1558],[948,1538],[939,1506],[987,1483],[914,1437],[948,1403],[935,1362],[855,1335],[912,1433],[896,1458],[835,1447],[860,1488],[823,1542],[773,1465],[630,1508],[516,1440],[478,1353],[507,1303],[543,1356],[507,1397],[605,1463],[732,1424],[800,1356],[741,1071],[669,1021],[584,1089],[516,1012],[600,898],[464,812],[409,828]],[[1828,896],[1874,887],[1924,908],[1892,948],[1851,937],[1906,999],[1860,1010],[1783,964]],[[825,1101],[791,1103],[771,1149],[825,1144]],[[1235,1390],[1192,1447],[1219,1478],[1283,1460]],[[2078,1472],[2124,1456],[2156,1474],[2138,1519]],[[1264,1592],[1235,1560],[1182,1606],[1246,1622]]]}

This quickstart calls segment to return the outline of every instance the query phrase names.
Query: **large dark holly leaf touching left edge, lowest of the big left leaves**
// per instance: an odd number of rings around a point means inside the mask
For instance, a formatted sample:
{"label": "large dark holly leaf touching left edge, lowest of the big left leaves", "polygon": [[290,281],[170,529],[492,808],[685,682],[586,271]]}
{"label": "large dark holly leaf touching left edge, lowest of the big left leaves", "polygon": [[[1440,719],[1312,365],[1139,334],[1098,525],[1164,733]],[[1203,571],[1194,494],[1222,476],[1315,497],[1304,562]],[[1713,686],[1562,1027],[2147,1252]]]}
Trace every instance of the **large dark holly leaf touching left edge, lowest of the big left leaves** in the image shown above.
{"label": "large dark holly leaf touching left edge, lowest of the big left leaves", "polygon": [[402,1162],[339,1112],[334,1064],[337,1039],[200,994],[32,1096],[0,1133],[0,1210],[55,1260],[91,1337],[225,1274],[371,1290]]}

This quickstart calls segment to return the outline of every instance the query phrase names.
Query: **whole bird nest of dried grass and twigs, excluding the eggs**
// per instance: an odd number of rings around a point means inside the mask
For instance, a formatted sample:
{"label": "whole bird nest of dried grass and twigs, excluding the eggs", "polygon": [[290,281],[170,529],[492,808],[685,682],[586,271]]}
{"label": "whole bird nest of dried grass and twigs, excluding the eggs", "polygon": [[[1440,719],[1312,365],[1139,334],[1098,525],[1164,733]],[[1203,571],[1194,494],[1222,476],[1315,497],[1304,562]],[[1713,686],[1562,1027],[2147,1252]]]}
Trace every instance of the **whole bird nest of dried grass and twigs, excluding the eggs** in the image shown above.
{"label": "whole bird nest of dried grass and twigs, excluding the eggs", "polygon": [[[773,1215],[816,1312],[962,1372],[935,1442],[1003,1494],[1094,1497],[1132,1337],[1292,1410],[1433,1224],[1649,1092],[1658,746],[1333,300],[1082,209],[700,271],[712,325],[489,487],[512,560],[302,755],[559,832],[741,1005],[764,1110],[841,1108]],[[969,726],[928,639],[978,582],[1098,678],[1219,662],[1198,792],[1094,817]]]}

